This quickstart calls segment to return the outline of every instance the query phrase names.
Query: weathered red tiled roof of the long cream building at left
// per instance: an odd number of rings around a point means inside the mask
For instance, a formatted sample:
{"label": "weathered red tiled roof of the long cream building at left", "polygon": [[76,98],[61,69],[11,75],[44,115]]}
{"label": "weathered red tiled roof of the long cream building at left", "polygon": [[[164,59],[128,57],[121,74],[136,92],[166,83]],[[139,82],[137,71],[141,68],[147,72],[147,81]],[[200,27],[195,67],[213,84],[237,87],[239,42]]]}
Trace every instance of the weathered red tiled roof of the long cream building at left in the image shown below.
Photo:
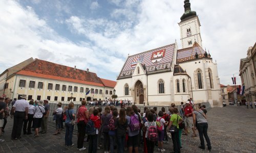
{"label": "weathered red tiled roof of the long cream building at left", "polygon": [[68,81],[101,87],[104,86],[96,73],[80,69],[75,70],[73,67],[59,65],[39,59],[35,59],[34,62],[16,73],[38,78]]}

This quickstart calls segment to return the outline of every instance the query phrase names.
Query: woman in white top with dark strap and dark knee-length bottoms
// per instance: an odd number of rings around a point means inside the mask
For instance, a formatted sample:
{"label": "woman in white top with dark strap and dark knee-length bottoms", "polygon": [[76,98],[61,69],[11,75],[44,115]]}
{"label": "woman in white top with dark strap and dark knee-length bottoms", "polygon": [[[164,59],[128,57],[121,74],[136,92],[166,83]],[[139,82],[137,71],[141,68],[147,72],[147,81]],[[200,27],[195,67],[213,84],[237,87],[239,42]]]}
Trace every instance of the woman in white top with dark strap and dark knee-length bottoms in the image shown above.
{"label": "woman in white top with dark strap and dark knee-length bottoms", "polygon": [[42,122],[42,114],[45,113],[45,107],[42,106],[42,103],[44,101],[39,100],[38,105],[35,107],[35,113],[34,113],[34,118],[33,118],[33,126],[35,128],[35,135],[34,137],[38,137],[38,128],[41,127],[41,122]]}

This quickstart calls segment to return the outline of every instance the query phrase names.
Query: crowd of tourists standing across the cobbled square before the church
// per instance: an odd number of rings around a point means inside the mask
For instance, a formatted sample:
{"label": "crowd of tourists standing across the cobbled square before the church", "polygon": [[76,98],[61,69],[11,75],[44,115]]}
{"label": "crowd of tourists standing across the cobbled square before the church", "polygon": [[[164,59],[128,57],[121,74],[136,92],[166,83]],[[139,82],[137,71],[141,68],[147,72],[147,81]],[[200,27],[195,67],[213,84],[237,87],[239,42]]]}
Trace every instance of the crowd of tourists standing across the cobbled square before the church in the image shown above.
{"label": "crowd of tourists standing across the cobbled square before the church", "polygon": [[[8,109],[10,99],[0,96],[0,134],[4,132],[4,123],[9,116],[13,118],[13,129],[11,139],[19,139],[22,134],[32,134],[38,137],[39,133],[47,133],[47,124],[50,106],[48,99],[26,100],[26,95],[20,96],[22,99],[16,100],[11,111]],[[103,146],[106,152],[139,152],[138,147],[143,145],[143,152],[154,152],[154,147],[160,152],[166,151],[163,143],[168,143],[172,138],[173,150],[180,152],[182,149],[181,136],[188,136],[188,129],[191,128],[191,137],[197,137],[198,130],[200,137],[199,148],[205,149],[204,138],[207,142],[207,149],[211,150],[211,144],[207,135],[207,119],[205,106],[194,104],[190,98],[185,104],[181,102],[181,109],[172,104],[165,110],[157,110],[157,107],[149,109],[144,107],[140,110],[136,105],[127,106],[121,103],[106,105],[104,110],[101,107],[90,107],[87,109],[87,101],[82,100],[77,110],[74,110],[74,103],[70,103],[62,109],[62,104],[57,104],[57,109],[53,112],[56,122],[56,131],[53,135],[60,134],[65,120],[65,145],[73,146],[73,130],[77,125],[77,149],[86,150],[84,139],[87,136],[88,152],[97,152]],[[5,118],[5,119],[4,119]],[[41,131],[40,131],[41,130]],[[40,132],[39,132],[40,131]],[[103,139],[101,139],[103,137]],[[0,139],[0,142],[4,140]]]}

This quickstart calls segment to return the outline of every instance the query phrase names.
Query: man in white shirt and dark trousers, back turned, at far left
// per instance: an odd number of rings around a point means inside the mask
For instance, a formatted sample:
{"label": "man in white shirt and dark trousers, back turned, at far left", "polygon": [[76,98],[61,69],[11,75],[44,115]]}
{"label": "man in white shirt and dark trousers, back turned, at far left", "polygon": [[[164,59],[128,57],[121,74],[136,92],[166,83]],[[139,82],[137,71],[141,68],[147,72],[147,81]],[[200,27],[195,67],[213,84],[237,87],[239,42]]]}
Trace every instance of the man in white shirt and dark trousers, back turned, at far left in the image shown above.
{"label": "man in white shirt and dark trousers, back turned, at far left", "polygon": [[20,98],[22,99],[17,100],[11,110],[11,118],[14,116],[11,138],[15,140],[20,138],[24,119],[28,119],[29,103],[26,100],[27,95],[23,94]]}

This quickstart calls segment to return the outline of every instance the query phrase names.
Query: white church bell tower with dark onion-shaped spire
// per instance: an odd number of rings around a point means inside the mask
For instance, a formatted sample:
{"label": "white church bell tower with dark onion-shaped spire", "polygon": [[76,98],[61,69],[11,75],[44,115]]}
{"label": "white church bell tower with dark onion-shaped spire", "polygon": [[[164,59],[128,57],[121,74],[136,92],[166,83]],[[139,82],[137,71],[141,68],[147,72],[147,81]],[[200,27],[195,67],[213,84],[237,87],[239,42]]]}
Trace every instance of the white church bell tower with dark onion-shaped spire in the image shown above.
{"label": "white church bell tower with dark onion-shaped spire", "polygon": [[184,1],[185,12],[178,23],[180,26],[180,40],[182,48],[193,46],[195,41],[201,46],[200,22],[196,11],[191,11],[189,0]]}

